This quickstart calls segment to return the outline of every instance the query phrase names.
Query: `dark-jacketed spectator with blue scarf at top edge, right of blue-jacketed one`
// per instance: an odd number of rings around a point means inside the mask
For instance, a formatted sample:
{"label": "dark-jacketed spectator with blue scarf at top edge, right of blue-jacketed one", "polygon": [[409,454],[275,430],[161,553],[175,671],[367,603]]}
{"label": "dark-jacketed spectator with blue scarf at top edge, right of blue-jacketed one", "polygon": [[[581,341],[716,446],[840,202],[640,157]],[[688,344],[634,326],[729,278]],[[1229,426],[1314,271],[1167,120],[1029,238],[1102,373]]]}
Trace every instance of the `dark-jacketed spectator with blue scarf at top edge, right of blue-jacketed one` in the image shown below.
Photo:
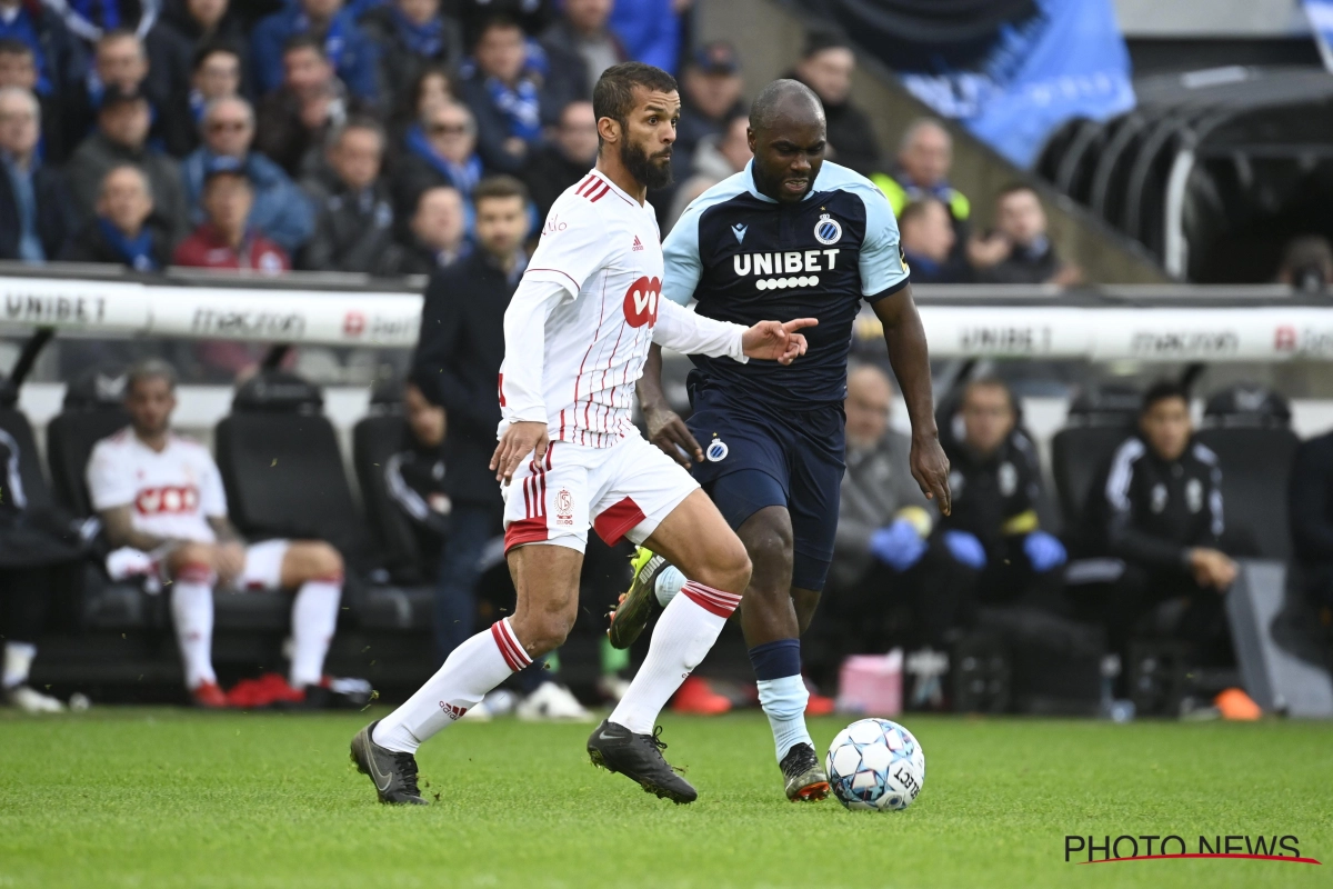
{"label": "dark-jacketed spectator with blue scarf at top edge, right of blue-jacketed one", "polygon": [[365,13],[361,29],[379,47],[385,105],[403,101],[427,68],[463,60],[463,29],[440,12],[440,0],[392,0]]}

